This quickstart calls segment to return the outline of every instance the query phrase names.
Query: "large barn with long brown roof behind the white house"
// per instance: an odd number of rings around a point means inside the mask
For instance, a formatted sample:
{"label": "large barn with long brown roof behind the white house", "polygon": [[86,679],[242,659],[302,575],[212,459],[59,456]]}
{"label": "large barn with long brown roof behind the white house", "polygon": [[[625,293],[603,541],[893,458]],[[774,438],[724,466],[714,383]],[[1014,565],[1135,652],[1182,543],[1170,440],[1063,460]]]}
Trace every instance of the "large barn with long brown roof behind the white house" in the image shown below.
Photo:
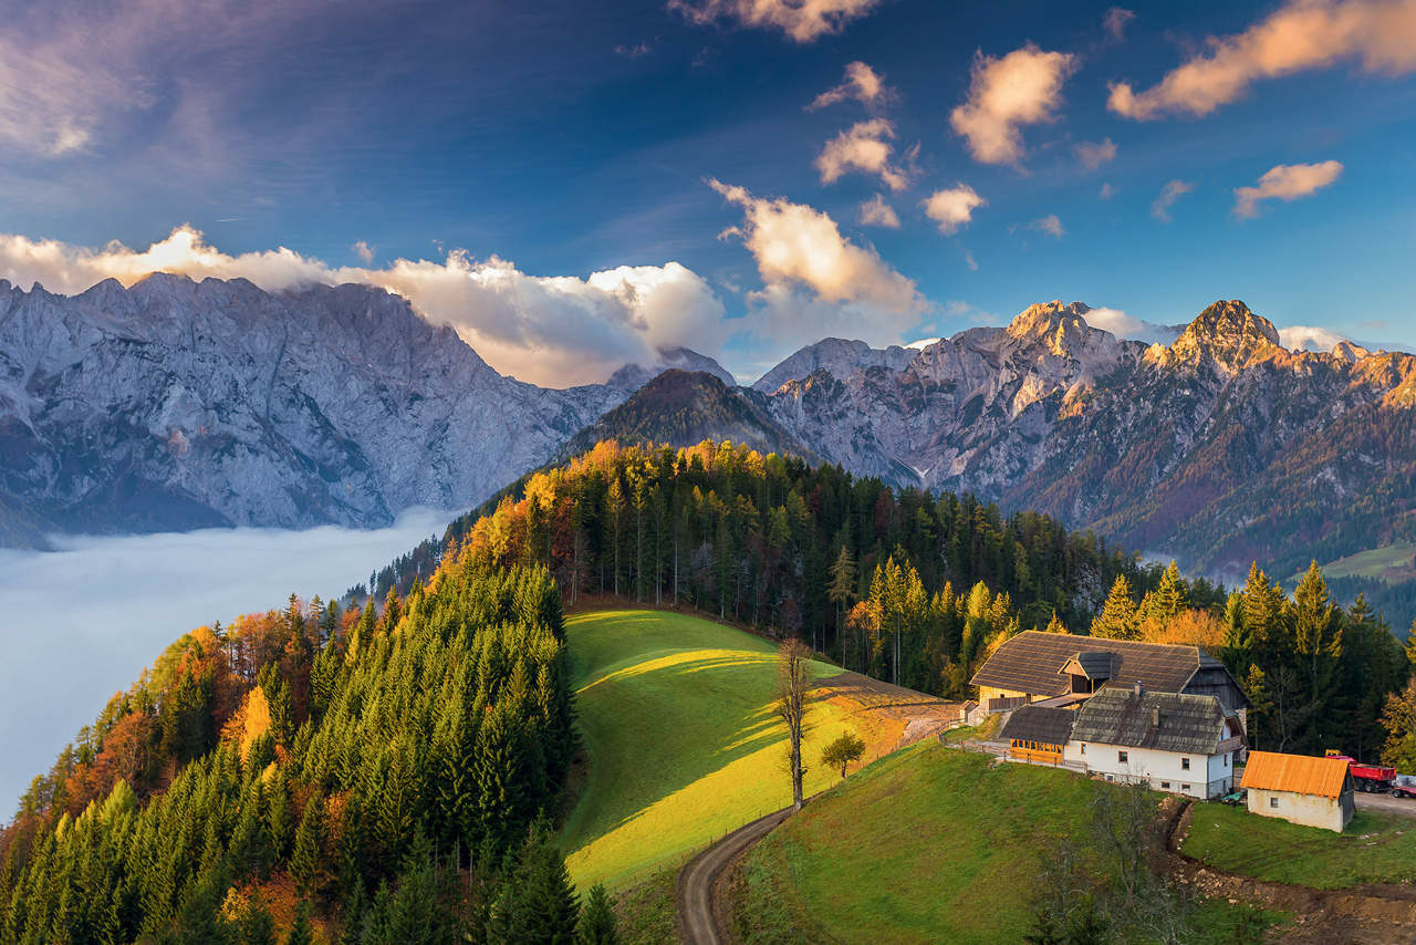
{"label": "large barn with long brown roof behind the white house", "polygon": [[1147,693],[1214,696],[1225,714],[1249,708],[1225,664],[1198,646],[1106,640],[1025,630],[1004,640],[974,673],[978,701],[990,711],[1028,703],[1079,706],[1103,687],[1136,683]]}

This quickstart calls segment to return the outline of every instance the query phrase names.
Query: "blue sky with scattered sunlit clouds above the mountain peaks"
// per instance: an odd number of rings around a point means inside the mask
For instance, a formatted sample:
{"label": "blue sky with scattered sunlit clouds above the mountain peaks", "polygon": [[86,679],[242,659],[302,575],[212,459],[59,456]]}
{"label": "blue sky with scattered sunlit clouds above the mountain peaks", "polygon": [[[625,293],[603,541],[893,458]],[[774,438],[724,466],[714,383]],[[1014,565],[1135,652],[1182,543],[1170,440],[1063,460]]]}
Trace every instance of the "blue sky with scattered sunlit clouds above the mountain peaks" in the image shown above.
{"label": "blue sky with scattered sunlit clouds above the mountain peaks", "polygon": [[1416,0],[0,0],[0,278],[364,281],[566,385],[1059,298],[1416,346]]}

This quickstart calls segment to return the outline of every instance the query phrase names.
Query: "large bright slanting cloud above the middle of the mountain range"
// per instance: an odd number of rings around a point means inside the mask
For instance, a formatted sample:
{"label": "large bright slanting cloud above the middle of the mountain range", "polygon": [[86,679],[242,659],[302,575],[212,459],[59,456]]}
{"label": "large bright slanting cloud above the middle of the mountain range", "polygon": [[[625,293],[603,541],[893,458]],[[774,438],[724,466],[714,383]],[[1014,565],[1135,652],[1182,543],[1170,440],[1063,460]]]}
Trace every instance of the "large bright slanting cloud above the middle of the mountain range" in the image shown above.
{"label": "large bright slanting cloud above the middle of the mountain range", "polygon": [[724,200],[742,207],[743,222],[729,234],[752,252],[769,293],[809,289],[814,302],[865,303],[877,310],[916,316],[926,307],[912,279],[874,249],[841,235],[830,215],[784,198],[755,197],[743,187],[711,180]]}

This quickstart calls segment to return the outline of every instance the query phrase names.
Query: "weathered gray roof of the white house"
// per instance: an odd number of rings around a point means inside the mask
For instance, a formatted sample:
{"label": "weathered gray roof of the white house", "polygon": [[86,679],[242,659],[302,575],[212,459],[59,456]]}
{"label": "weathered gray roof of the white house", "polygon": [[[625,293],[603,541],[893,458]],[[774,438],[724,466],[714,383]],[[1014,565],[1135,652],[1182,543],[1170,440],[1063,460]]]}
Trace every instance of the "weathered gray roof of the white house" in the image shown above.
{"label": "weathered gray roof of the white house", "polygon": [[1212,755],[1225,738],[1225,710],[1214,696],[1141,693],[1109,686],[1076,711],[1073,741]]}

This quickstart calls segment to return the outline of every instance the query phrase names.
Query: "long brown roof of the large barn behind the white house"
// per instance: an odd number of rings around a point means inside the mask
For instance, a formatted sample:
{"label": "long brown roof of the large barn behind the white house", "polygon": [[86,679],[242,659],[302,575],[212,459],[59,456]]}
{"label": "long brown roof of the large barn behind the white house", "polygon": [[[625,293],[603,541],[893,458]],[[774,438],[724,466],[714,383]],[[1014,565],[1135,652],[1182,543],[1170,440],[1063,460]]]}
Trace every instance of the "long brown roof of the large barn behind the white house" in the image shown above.
{"label": "long brown roof of the large barn behind the white house", "polygon": [[[1218,664],[1197,646],[1024,630],[1004,640],[970,683],[1034,696],[1061,696],[1070,687],[1063,667],[1082,655],[1086,655],[1086,663],[1095,666],[1102,659],[1100,653],[1113,657],[1113,681],[1140,683],[1161,693],[1178,693],[1201,666]],[[1222,664],[1219,669],[1223,669]]]}

